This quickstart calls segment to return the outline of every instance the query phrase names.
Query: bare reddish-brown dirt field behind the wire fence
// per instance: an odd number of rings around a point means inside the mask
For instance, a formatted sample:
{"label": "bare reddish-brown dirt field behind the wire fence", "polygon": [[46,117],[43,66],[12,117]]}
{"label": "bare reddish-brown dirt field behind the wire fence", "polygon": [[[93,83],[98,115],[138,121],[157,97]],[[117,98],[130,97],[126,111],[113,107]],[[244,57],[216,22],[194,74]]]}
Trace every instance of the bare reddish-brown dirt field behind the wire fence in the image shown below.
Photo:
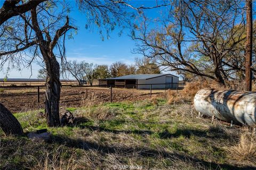
{"label": "bare reddish-brown dirt field behind the wire fence", "polygon": [[[37,103],[37,88],[9,88],[0,92],[0,103],[12,113],[44,108],[45,92],[40,89],[40,103]],[[153,97],[163,95],[164,90],[153,90]],[[112,100],[134,101],[150,98],[149,90],[113,89]],[[110,102],[110,90],[108,88],[62,87],[60,107],[82,107]]]}

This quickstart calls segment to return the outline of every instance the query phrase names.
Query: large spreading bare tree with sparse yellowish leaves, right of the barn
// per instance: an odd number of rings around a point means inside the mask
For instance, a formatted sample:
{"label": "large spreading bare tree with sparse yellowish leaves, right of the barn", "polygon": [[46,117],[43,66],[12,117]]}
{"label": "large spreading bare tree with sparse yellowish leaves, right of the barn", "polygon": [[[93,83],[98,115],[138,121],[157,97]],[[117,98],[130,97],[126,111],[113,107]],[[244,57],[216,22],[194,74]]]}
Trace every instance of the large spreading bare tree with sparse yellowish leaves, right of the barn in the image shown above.
{"label": "large spreading bare tree with sparse yellowish leaves, right of the barn", "polygon": [[[230,74],[227,54],[239,49],[243,37],[241,1],[176,1],[162,28],[139,28],[137,53],[156,58],[170,71],[190,72],[225,84]],[[240,33],[240,34],[238,34]],[[234,57],[234,56],[232,56]],[[231,57],[231,58],[232,58]],[[231,60],[230,58],[230,60]]]}

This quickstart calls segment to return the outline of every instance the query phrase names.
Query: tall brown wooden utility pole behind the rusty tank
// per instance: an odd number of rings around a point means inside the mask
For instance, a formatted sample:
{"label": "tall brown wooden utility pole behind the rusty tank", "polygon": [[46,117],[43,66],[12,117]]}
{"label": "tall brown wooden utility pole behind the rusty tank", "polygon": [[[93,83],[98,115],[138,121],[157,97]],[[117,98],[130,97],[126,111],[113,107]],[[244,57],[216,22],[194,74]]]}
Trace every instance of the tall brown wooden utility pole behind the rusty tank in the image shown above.
{"label": "tall brown wooden utility pole behind the rusty tank", "polygon": [[252,91],[252,0],[246,0],[245,90]]}

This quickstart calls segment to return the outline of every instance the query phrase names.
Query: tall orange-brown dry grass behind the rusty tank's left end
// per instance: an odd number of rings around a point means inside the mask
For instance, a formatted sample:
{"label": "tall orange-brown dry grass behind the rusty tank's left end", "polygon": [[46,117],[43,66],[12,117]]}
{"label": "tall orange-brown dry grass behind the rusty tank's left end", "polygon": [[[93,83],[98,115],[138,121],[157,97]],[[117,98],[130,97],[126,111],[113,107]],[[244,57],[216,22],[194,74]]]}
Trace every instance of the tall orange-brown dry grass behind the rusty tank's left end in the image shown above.
{"label": "tall orange-brown dry grass behind the rusty tank's left end", "polygon": [[178,93],[175,90],[167,90],[168,103],[175,104],[193,102],[197,91],[203,88],[223,89],[224,87],[220,86],[220,84],[215,81],[209,80],[187,82],[184,89],[178,91]]}

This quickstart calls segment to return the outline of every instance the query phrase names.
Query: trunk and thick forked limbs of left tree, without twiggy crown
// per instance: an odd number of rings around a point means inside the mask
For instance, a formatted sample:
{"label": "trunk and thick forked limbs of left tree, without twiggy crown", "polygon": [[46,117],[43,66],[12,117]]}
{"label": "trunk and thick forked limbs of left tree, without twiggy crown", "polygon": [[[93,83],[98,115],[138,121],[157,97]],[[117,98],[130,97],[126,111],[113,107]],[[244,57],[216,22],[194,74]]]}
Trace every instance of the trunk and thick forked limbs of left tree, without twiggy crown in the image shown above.
{"label": "trunk and thick forked limbs of left tree, without twiggy crown", "polygon": [[54,55],[53,49],[57,45],[61,36],[65,35],[69,29],[76,29],[69,25],[69,18],[67,16],[66,23],[60,27],[53,37],[50,33],[45,31],[46,39],[39,27],[37,20],[36,8],[31,10],[31,22],[37,40],[39,41],[39,49],[43,56],[46,65],[47,80],[46,80],[46,100],[45,113],[48,126],[60,126],[59,118],[59,100],[60,100],[60,65]]}

